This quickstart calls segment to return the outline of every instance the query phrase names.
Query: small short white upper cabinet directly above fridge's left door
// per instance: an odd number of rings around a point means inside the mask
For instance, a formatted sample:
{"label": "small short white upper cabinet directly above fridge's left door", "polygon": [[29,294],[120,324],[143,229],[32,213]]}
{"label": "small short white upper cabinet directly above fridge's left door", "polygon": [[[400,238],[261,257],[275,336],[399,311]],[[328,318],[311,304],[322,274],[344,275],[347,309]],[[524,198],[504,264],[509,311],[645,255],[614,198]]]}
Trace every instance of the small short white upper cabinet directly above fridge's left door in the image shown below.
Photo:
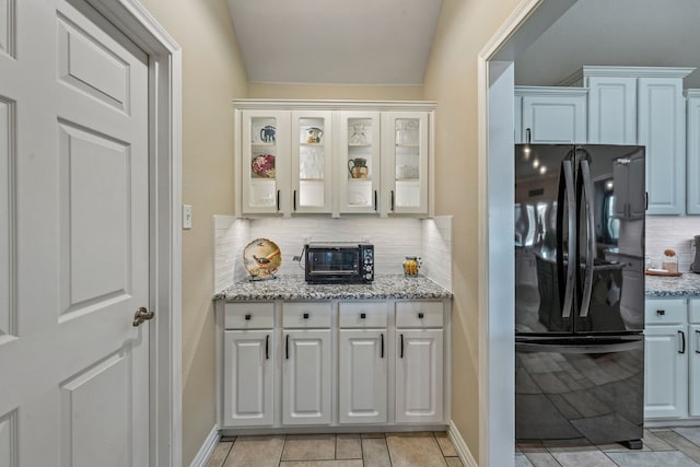
{"label": "small short white upper cabinet directly above fridge's left door", "polygon": [[586,142],[586,98],[585,89],[515,86],[516,142]]}

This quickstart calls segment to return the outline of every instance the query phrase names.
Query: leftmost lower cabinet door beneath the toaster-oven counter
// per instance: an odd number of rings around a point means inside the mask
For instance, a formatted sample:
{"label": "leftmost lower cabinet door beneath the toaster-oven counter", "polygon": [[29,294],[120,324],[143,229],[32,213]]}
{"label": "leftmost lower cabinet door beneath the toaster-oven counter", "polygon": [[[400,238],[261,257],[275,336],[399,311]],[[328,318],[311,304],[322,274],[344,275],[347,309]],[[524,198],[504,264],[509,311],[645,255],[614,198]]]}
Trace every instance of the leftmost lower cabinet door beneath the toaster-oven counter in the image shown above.
{"label": "leftmost lower cabinet door beneath the toaster-oven counter", "polygon": [[224,425],[271,425],[275,383],[272,329],[228,330],[224,339]]}

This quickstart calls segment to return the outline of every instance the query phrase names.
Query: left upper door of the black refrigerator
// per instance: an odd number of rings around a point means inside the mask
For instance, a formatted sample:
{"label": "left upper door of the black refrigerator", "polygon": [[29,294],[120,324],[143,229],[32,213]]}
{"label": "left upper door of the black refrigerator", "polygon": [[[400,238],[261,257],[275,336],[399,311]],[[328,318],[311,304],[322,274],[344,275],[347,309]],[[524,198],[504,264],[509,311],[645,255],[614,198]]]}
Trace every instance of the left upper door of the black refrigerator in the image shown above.
{"label": "left upper door of the black refrigerator", "polygon": [[575,302],[572,145],[515,145],[515,330],[571,332]]}

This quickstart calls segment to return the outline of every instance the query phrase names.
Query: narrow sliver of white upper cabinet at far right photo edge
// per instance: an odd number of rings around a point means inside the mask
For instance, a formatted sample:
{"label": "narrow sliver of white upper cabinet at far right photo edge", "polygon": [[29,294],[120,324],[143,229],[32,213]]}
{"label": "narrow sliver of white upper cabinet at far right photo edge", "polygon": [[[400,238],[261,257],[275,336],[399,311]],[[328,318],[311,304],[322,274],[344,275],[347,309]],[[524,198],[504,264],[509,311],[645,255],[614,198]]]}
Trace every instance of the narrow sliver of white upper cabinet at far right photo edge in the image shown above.
{"label": "narrow sliver of white upper cabinet at far right photo edge", "polygon": [[686,210],[700,214],[700,90],[686,91]]}

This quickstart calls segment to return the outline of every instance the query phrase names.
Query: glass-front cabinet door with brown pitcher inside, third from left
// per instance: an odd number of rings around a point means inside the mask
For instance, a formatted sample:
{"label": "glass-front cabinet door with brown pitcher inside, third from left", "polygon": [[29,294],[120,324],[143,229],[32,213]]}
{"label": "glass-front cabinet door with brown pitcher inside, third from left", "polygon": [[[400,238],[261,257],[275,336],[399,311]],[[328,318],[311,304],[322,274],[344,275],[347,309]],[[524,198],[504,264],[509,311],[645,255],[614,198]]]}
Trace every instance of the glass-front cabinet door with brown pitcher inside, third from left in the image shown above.
{"label": "glass-front cabinet door with brown pitcher inside, third from left", "polygon": [[[378,112],[340,113],[340,213],[378,212],[380,125]],[[340,155],[339,154],[339,155]]]}

